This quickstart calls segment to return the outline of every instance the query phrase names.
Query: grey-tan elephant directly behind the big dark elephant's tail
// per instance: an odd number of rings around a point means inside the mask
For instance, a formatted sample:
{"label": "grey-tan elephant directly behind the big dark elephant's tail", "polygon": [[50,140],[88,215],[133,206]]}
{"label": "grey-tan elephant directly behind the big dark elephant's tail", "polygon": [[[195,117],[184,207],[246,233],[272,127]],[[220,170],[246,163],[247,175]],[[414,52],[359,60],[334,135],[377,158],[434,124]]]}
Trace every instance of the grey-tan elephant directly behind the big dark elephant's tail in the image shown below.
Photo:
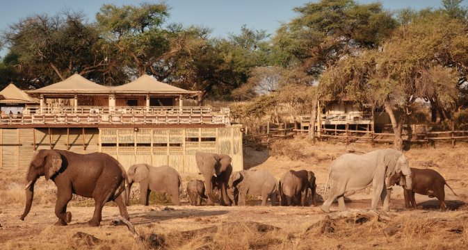
{"label": "grey-tan elephant directly behind the big dark elephant's tail", "polygon": [[[170,195],[170,200],[175,206],[180,206],[179,188],[182,179],[173,167],[161,166],[152,167],[141,163],[131,165],[127,170],[129,178],[129,188],[133,183],[140,183],[140,197],[143,205],[148,206],[151,191],[166,192]],[[127,194],[127,201],[130,200],[130,192]]]}

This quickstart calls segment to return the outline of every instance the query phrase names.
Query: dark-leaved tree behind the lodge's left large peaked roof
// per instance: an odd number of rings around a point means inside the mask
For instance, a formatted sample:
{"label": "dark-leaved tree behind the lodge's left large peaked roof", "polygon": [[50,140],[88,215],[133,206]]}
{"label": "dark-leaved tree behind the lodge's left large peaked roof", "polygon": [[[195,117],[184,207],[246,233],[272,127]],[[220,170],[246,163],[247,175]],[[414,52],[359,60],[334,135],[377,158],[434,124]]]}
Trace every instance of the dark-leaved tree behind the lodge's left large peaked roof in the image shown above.
{"label": "dark-leaved tree behind the lodge's left large peaked roof", "polygon": [[74,73],[102,79],[109,71],[111,52],[81,13],[33,15],[9,26],[3,33],[9,64],[21,76],[19,84],[40,88]]}

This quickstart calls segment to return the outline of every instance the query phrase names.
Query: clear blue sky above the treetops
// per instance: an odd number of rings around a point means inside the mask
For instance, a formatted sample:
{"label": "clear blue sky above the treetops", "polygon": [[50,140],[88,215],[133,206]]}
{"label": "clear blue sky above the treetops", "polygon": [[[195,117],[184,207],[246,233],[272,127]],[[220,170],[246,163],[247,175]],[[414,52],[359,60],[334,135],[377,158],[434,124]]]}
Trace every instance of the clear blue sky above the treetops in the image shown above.
{"label": "clear blue sky above the treetops", "polygon": [[[0,0],[0,31],[8,24],[19,22],[22,17],[47,13],[54,15],[63,10],[83,11],[90,22],[104,3],[138,5],[142,1],[159,3],[152,0]],[[289,22],[296,13],[293,8],[303,6],[311,0],[166,0],[170,6],[169,22],[182,23],[186,26],[195,24],[211,28],[214,37],[227,37],[229,33],[239,33],[241,26],[266,30],[274,34],[282,22]],[[396,10],[411,7],[414,9],[438,8],[441,0],[382,0],[384,8]],[[370,3],[373,0],[360,0]],[[468,0],[463,1],[468,6]],[[4,53],[4,51],[3,51]],[[0,52],[0,56],[3,54]]]}

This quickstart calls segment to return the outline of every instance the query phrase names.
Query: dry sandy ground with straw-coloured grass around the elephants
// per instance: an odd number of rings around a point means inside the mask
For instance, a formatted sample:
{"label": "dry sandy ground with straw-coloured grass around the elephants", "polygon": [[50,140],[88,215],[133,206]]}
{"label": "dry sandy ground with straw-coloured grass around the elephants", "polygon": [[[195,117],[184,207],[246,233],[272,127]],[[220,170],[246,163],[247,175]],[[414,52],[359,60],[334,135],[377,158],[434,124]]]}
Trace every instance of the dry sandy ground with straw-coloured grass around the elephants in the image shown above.
{"label": "dry sandy ground with straw-coloured grass around the elephants", "polygon": [[[267,151],[248,149],[244,153],[245,167],[268,169],[279,179],[288,169],[311,169],[318,179],[319,194],[326,182],[328,165],[333,158],[346,153],[373,150],[366,144],[330,144],[320,142],[315,146],[305,140],[308,156],[302,160],[287,157],[269,157]],[[405,210],[403,191],[399,187],[392,192],[389,213],[369,213],[369,188],[349,194],[344,213],[325,215],[318,207],[261,207],[259,201],[250,201],[250,206],[168,206],[175,210],[163,210],[166,206],[130,206],[131,222],[143,236],[150,233],[165,235],[162,246],[168,249],[467,249],[468,247],[468,146],[458,144],[455,149],[438,146],[413,147],[405,152],[411,167],[430,167],[440,172],[455,196],[446,188],[446,203],[450,211],[441,213],[437,199],[417,195],[418,210]],[[146,249],[138,243],[126,226],[111,225],[119,216],[112,203],[102,213],[102,226],[86,226],[92,217],[92,206],[83,207],[72,202],[69,226],[53,226],[54,194],[35,196],[33,208],[25,221],[19,220],[24,206],[24,173],[15,174],[0,170],[0,249]],[[183,176],[184,182],[200,176]],[[53,183],[38,181],[36,190],[55,189]],[[318,203],[319,206],[321,202]],[[332,206],[332,211],[337,205]],[[232,224],[231,222],[236,222]],[[260,222],[278,227],[273,231],[258,231],[249,222]],[[231,223],[231,224],[225,224]],[[223,224],[225,226],[223,226]],[[227,225],[227,226],[226,226]],[[217,231],[197,232],[190,237],[177,236],[182,231],[191,231],[208,226],[218,226]],[[89,242],[74,237],[76,232],[88,233],[99,239]]]}

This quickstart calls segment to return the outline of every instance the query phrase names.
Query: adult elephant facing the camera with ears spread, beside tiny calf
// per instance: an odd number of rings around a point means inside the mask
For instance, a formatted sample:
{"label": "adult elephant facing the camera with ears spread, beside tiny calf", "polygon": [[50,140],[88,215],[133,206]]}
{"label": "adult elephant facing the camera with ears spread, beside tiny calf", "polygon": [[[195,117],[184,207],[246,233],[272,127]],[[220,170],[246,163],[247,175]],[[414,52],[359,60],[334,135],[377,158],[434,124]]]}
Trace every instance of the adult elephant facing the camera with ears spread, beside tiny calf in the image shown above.
{"label": "adult elephant facing the camera with ears spread, beside tiny calf", "polygon": [[217,202],[213,197],[213,188],[218,186],[220,189],[220,205],[229,206],[231,201],[227,197],[227,183],[232,173],[232,158],[226,154],[219,153],[195,153],[195,160],[200,174],[204,176],[204,184],[207,188],[208,205]]}

